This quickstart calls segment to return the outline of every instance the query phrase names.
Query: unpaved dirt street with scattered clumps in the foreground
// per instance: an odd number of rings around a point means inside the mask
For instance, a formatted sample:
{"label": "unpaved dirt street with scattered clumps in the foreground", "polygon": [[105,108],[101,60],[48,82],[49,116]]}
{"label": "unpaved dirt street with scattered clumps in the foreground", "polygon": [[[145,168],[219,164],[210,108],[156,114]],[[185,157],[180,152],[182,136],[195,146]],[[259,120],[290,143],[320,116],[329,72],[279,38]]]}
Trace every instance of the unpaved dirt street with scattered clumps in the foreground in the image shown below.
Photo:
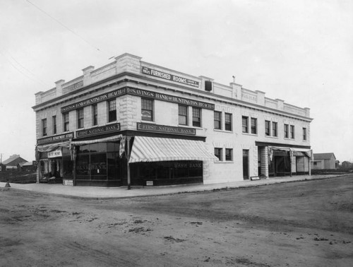
{"label": "unpaved dirt street with scattered clumps in the foreground", "polygon": [[353,266],[353,177],[114,200],[0,189],[0,266]]}

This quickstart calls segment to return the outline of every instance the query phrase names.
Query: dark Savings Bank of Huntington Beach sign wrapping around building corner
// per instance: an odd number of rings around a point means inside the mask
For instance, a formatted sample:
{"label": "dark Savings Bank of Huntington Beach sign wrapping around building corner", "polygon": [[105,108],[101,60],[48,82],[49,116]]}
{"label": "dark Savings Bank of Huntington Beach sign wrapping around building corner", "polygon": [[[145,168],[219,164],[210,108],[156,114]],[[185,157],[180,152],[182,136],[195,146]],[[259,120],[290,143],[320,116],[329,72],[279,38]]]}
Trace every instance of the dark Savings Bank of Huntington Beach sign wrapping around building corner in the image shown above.
{"label": "dark Savings Bank of Huntington Beach sign wrapping around building corner", "polygon": [[177,97],[175,95],[166,95],[166,94],[162,94],[162,93],[156,93],[156,92],[142,90],[142,89],[138,89],[138,88],[126,87],[126,88],[121,88],[119,90],[114,90],[110,93],[105,93],[104,95],[98,95],[96,97],[89,98],[88,100],[83,100],[83,101],[76,102],[76,103],[73,103],[73,104],[65,106],[65,107],[61,107],[61,113],[69,112],[74,109],[86,107],[88,105],[92,105],[97,102],[106,101],[106,100],[109,100],[109,99],[112,99],[115,97],[119,97],[121,95],[126,95],[126,94],[127,95],[138,95],[141,97],[150,97],[150,98],[153,98],[156,100],[173,102],[173,103],[182,104],[182,105],[189,105],[192,107],[200,107],[203,109],[211,109],[211,110],[215,109],[214,104],[210,104],[210,103],[206,103],[206,102],[191,100],[191,99],[184,98],[184,97]]}

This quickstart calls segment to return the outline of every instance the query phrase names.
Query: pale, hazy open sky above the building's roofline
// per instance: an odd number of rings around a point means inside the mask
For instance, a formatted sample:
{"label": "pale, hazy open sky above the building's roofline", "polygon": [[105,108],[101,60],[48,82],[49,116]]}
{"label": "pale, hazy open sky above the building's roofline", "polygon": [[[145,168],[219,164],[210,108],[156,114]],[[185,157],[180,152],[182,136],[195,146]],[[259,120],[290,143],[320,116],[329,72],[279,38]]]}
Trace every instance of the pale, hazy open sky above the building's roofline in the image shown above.
{"label": "pale, hazy open sky above the building's roofline", "polygon": [[311,109],[314,153],[353,161],[351,0],[1,0],[0,154],[35,159],[35,93],[130,53]]}

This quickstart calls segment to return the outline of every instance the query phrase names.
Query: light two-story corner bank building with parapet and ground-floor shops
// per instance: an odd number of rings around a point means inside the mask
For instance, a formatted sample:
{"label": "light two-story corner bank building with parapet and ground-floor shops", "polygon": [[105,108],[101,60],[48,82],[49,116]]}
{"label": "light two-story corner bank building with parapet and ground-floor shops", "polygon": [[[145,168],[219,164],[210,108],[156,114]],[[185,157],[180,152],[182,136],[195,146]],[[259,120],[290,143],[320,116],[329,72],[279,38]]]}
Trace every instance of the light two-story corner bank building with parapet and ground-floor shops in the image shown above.
{"label": "light two-story corner bank building with parapet and ground-floor shops", "polygon": [[35,95],[38,179],[121,186],[310,173],[309,108],[132,54]]}

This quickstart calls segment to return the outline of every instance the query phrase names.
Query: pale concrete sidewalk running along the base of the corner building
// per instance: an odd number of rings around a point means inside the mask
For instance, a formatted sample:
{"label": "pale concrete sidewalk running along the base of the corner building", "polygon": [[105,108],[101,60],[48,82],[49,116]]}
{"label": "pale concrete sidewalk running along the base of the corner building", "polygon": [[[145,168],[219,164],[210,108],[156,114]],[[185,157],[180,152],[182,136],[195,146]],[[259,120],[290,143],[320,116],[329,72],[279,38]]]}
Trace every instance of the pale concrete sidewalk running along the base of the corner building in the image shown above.
{"label": "pale concrete sidewalk running along the base of the corner building", "polygon": [[[342,174],[332,175],[300,175],[293,177],[271,177],[257,181],[239,181],[222,184],[189,184],[181,186],[151,186],[133,187],[128,190],[126,186],[121,187],[98,187],[98,186],[63,186],[62,184],[10,184],[9,190],[34,191],[43,194],[55,194],[60,196],[71,196],[78,198],[128,198],[134,196],[160,196],[167,194],[180,194],[186,192],[213,191],[219,189],[233,189],[266,184],[279,184],[285,182],[296,182],[304,180],[328,179],[344,176]],[[0,188],[5,187],[5,182],[0,182]]]}

